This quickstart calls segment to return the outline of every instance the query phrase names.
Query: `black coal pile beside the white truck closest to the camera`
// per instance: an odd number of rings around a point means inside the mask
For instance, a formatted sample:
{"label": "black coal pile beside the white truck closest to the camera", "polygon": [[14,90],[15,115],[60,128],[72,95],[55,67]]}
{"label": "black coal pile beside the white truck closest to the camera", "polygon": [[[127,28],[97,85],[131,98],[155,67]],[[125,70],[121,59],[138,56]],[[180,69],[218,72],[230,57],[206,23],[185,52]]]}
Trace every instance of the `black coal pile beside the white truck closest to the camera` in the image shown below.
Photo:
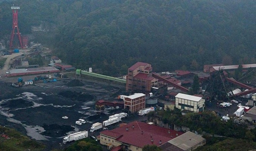
{"label": "black coal pile beside the white truck closest to the camera", "polygon": [[68,125],[43,125],[45,132],[41,133],[44,136],[49,137],[62,137],[65,136],[66,133],[73,131],[75,128]]}

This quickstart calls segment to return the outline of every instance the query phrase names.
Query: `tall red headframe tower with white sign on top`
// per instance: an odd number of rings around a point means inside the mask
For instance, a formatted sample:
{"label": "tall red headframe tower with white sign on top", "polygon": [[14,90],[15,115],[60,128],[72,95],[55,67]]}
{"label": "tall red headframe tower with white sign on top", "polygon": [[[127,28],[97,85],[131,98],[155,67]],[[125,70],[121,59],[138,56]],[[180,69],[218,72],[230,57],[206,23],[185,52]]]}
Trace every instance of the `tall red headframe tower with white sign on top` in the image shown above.
{"label": "tall red headframe tower with white sign on top", "polygon": [[11,34],[11,40],[10,40],[10,49],[12,49],[13,38],[14,38],[14,34],[16,35],[16,30],[17,30],[17,37],[19,38],[20,47],[23,48],[22,39],[20,36],[19,28],[18,28],[19,7],[13,6],[13,7],[11,7],[11,9],[12,9],[12,34]]}

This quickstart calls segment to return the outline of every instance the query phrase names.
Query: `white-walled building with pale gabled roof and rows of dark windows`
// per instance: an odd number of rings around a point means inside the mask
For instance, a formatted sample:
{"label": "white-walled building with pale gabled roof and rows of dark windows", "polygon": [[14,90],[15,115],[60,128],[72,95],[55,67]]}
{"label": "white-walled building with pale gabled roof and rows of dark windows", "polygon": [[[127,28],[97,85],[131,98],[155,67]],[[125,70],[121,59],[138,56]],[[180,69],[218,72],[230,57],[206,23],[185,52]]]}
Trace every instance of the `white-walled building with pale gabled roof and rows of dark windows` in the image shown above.
{"label": "white-walled building with pale gabled roof and rows of dark windows", "polygon": [[178,109],[202,112],[205,108],[205,99],[198,96],[179,93],[175,96],[175,106]]}

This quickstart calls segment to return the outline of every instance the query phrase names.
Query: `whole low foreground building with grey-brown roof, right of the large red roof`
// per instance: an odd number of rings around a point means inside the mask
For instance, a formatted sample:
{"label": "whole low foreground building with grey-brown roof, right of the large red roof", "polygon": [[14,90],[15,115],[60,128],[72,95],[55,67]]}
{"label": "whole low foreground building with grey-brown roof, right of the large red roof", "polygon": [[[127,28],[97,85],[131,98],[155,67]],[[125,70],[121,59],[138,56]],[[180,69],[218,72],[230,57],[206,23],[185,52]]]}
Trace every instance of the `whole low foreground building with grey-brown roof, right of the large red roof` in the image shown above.
{"label": "whole low foreground building with grey-brown roof, right of the large red roof", "polygon": [[163,151],[192,151],[205,144],[205,138],[188,131],[159,147]]}

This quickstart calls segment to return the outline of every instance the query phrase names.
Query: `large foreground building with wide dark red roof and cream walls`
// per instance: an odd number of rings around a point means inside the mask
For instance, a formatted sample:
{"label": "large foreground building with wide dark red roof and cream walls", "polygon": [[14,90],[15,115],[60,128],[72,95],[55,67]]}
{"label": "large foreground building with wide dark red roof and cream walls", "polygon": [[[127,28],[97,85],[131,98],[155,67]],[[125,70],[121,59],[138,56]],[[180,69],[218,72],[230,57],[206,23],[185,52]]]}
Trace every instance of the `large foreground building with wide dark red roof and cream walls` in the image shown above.
{"label": "large foreground building with wide dark red roof and cream walls", "polygon": [[116,151],[121,149],[142,151],[145,145],[160,146],[182,134],[183,132],[133,121],[122,127],[100,132],[100,144],[114,148]]}

